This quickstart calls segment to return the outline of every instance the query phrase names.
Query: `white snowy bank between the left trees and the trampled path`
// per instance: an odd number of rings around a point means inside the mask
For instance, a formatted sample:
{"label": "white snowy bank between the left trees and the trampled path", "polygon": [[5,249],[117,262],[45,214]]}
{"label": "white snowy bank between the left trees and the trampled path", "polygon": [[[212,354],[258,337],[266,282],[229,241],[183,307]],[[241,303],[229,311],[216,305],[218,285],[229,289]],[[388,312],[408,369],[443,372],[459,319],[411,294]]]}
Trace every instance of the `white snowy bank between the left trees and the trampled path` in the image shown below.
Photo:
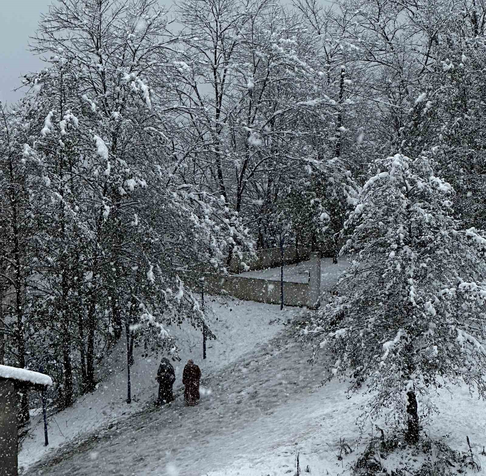
{"label": "white snowy bank between the left trees and the trampled path", "polygon": [[[300,311],[279,306],[245,302],[238,299],[225,302],[207,296],[209,327],[217,340],[207,342],[207,359],[202,360],[202,335],[190,326],[172,329],[183,347],[180,362],[173,362],[176,382],[174,390],[182,386],[181,375],[186,361],[191,358],[208,376],[238,360],[245,352],[273,338],[283,327],[282,320],[293,318]],[[155,381],[159,359],[154,356],[141,358],[135,349],[135,364],[131,368],[132,404],[126,399],[126,347],[124,342],[113,351],[104,363],[104,372],[109,375],[93,394],[77,400],[71,409],[53,415],[49,420],[49,446],[44,447],[42,415],[33,411],[29,435],[23,440],[19,453],[19,467],[28,468],[40,458],[52,454],[61,444],[107,427],[120,419],[140,412],[155,401]]]}

